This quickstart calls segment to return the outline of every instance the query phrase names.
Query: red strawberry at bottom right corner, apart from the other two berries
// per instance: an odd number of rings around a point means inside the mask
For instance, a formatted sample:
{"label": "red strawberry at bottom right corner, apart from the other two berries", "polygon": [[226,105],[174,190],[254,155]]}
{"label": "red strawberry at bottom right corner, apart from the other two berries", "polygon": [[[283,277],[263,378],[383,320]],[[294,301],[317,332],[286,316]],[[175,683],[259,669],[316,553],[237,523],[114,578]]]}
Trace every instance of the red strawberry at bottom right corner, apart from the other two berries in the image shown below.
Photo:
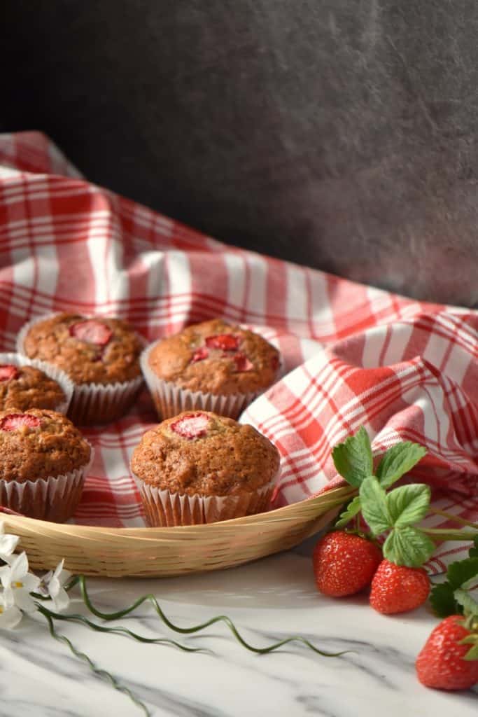
{"label": "red strawberry at bottom right corner, apart from the other two berries", "polygon": [[416,658],[416,674],[422,685],[467,690],[478,683],[478,660],[464,660],[470,645],[459,645],[472,634],[464,620],[462,615],[449,615],[431,632]]}

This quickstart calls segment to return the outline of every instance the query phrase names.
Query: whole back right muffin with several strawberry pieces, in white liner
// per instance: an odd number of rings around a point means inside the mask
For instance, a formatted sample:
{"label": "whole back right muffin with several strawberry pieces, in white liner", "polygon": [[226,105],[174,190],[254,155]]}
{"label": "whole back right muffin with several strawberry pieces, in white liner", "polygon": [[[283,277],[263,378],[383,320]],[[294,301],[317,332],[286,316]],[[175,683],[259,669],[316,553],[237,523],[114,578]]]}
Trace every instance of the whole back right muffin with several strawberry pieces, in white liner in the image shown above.
{"label": "whole back right muffin with several strawberry pieces, in white liner", "polygon": [[141,368],[161,419],[186,409],[236,418],[277,380],[280,357],[257,333],[213,319],[148,346]]}

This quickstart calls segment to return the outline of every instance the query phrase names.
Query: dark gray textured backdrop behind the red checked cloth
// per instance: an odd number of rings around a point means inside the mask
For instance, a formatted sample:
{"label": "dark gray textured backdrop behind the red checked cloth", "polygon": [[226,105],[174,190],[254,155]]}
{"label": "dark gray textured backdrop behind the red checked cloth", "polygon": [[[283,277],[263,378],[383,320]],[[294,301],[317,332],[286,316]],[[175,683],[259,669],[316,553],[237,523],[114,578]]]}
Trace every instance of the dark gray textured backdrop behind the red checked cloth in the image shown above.
{"label": "dark gray textured backdrop behind the red checked cloth", "polygon": [[2,9],[2,128],[226,242],[478,305],[476,0]]}

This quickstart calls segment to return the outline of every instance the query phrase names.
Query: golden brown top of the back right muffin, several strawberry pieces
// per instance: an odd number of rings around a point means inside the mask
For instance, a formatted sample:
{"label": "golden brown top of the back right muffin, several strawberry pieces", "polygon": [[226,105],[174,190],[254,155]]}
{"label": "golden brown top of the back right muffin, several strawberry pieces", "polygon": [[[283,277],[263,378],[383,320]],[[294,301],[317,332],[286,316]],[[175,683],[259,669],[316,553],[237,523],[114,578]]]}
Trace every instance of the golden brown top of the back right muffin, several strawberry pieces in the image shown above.
{"label": "golden brown top of the back right muffin, several strawberry pieces", "polygon": [[149,365],[165,381],[203,393],[247,394],[277,379],[279,351],[262,336],[213,319],[188,326],[154,346]]}

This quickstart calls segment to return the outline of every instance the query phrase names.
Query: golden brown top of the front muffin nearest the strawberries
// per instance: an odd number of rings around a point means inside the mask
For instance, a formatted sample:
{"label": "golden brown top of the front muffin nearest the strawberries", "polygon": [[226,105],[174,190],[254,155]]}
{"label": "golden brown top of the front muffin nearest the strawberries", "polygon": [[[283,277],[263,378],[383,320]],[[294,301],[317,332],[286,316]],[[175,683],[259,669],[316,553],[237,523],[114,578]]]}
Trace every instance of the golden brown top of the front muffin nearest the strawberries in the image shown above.
{"label": "golden brown top of the front muffin nearest the strawberries", "polygon": [[143,435],[131,468],[171,493],[238,495],[274,478],[279,452],[252,426],[206,411],[183,412]]}

